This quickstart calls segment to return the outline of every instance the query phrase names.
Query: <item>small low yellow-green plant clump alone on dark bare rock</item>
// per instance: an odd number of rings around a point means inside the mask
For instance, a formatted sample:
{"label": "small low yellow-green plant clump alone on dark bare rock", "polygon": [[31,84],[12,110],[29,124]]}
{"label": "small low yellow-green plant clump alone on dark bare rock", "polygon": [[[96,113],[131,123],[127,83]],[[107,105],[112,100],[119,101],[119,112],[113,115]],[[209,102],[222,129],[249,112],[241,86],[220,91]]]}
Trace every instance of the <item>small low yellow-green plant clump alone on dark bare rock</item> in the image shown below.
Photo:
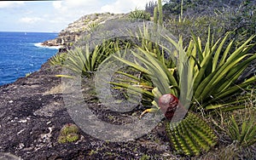
{"label": "small low yellow-green plant clump alone on dark bare rock", "polygon": [[59,134],[58,142],[67,143],[79,140],[79,128],[73,123],[65,124]]}

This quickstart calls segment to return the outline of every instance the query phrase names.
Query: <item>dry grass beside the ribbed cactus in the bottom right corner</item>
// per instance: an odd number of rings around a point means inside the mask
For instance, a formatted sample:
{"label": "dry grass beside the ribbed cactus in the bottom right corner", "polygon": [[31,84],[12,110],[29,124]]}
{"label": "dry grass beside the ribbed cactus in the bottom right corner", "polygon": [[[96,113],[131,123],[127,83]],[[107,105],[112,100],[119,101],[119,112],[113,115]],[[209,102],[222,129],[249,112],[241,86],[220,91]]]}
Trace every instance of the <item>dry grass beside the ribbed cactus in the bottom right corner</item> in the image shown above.
{"label": "dry grass beside the ribbed cactus in the bottom right corner", "polygon": [[212,123],[212,128],[218,134],[218,145],[212,148],[212,151],[207,152],[200,157],[193,157],[192,159],[255,159],[256,158],[256,144],[253,146],[241,146],[237,140],[232,140],[229,136],[230,116],[236,118],[237,124],[240,126],[244,121],[253,121],[256,124],[256,94],[252,90],[250,100],[247,100],[244,109],[221,112],[217,111],[216,115],[206,117],[208,122]]}

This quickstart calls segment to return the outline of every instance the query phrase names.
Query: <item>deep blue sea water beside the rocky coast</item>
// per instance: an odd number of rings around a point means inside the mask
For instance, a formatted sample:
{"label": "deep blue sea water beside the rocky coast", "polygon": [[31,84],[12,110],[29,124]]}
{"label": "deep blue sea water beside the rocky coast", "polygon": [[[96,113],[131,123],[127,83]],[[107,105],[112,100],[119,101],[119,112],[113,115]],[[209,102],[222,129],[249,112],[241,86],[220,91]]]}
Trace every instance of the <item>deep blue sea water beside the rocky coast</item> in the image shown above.
{"label": "deep blue sea water beside the rocky coast", "polygon": [[48,32],[0,31],[0,86],[40,69],[58,50],[39,44],[57,36]]}

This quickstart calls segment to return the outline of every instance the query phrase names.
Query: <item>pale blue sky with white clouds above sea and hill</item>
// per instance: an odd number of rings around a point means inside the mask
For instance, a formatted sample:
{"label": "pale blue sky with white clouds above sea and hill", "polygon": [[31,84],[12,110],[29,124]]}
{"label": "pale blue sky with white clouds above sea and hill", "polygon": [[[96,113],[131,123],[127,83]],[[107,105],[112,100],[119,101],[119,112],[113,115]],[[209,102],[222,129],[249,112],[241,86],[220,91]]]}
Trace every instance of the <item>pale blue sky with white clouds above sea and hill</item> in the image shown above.
{"label": "pale blue sky with white clouds above sea and hill", "polygon": [[60,32],[85,14],[129,13],[152,0],[0,1],[0,31]]}

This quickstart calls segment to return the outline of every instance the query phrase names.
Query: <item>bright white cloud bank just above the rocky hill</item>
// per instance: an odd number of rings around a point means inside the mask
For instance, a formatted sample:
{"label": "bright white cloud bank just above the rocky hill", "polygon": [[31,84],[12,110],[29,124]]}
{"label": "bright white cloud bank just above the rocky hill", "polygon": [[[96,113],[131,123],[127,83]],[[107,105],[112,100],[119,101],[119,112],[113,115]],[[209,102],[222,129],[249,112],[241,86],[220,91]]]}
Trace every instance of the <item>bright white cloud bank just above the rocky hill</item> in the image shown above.
{"label": "bright white cloud bank just above the rocky hill", "polygon": [[[128,13],[134,9],[144,9],[151,0],[61,0],[52,2],[55,9],[48,17],[50,24],[62,26],[62,29],[85,14],[94,13]],[[29,21],[29,20],[27,20]]]}

